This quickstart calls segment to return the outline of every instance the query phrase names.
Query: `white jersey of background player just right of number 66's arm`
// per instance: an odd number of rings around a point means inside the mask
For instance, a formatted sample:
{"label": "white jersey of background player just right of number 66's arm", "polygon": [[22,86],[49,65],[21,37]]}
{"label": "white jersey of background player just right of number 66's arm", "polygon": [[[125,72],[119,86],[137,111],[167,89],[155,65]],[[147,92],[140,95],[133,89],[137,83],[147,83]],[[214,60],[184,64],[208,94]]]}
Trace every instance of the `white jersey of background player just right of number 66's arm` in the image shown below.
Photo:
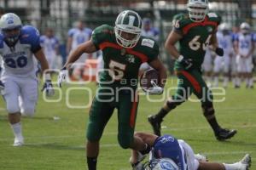
{"label": "white jersey of background player just right of number 66's arm", "polygon": [[217,34],[218,47],[224,49],[224,57],[230,57],[230,54],[234,51],[233,49],[233,41],[232,34],[229,33],[224,35],[222,31],[218,31]]}

